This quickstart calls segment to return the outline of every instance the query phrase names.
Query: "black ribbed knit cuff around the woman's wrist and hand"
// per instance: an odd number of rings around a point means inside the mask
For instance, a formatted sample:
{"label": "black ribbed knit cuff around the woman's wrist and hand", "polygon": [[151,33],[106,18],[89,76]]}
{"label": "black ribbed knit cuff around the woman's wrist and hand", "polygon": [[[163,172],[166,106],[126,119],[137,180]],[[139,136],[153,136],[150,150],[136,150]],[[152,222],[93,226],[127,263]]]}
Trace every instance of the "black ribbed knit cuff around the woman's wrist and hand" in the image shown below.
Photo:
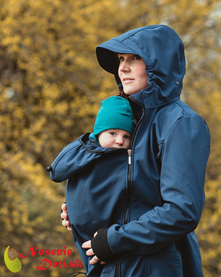
{"label": "black ribbed knit cuff around the woman's wrist and hand", "polygon": [[95,237],[91,239],[91,248],[99,260],[107,262],[116,257],[108,243],[107,231],[109,228],[99,229]]}

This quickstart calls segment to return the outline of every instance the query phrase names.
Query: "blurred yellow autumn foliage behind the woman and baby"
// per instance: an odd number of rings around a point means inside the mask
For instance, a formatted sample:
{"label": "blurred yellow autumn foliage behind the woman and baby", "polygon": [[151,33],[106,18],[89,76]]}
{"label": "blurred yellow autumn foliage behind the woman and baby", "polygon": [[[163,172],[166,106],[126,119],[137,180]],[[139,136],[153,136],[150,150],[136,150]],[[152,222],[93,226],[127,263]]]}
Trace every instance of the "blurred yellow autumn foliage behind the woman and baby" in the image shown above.
{"label": "blurred yellow autumn foliage behind the woman and baby", "polygon": [[[204,277],[221,276],[220,23],[221,2],[214,0],[0,0],[0,276],[13,275],[4,264],[8,245],[17,257],[30,246],[66,246],[72,257],[54,261],[80,258],[61,225],[66,181],[52,182],[46,167],[65,145],[93,131],[100,102],[118,91],[114,76],[97,62],[96,46],[152,24],[169,25],[183,40],[181,100],[211,133],[206,201],[195,233]],[[39,255],[20,260],[16,276],[84,271],[40,272]]]}

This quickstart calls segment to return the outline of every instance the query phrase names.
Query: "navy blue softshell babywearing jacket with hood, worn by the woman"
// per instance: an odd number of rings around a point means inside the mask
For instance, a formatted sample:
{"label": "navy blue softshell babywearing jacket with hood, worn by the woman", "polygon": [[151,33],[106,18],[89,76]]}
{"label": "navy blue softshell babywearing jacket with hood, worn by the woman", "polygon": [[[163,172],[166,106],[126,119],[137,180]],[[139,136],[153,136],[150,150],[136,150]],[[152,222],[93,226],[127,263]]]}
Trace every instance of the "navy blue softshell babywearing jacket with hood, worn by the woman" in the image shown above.
{"label": "navy blue softshell babywearing jacket with hood, worn by the woman", "polygon": [[[194,234],[204,206],[210,132],[204,119],[180,100],[184,47],[165,25],[130,30],[96,48],[101,67],[114,74],[113,52],[140,55],[149,86],[128,97],[136,119],[126,148],[86,145],[89,134],[67,145],[50,177],[67,180],[67,212],[75,245],[90,277],[202,277]],[[113,257],[90,265],[81,245],[98,232],[96,252]],[[95,238],[96,238],[95,237]],[[99,254],[100,253],[100,254]],[[100,255],[100,257],[99,257]],[[104,258],[104,257],[103,257]]]}

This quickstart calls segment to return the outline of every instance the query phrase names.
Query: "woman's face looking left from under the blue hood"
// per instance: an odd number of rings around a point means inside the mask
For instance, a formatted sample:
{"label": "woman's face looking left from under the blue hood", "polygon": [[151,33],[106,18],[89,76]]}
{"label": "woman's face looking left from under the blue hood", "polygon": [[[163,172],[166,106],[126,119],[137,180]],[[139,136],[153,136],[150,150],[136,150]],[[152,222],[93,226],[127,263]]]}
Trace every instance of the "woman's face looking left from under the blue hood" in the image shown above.
{"label": "woman's face looking left from under the blue hood", "polygon": [[125,94],[131,95],[149,86],[146,65],[140,56],[118,53],[118,58],[120,60],[118,75]]}

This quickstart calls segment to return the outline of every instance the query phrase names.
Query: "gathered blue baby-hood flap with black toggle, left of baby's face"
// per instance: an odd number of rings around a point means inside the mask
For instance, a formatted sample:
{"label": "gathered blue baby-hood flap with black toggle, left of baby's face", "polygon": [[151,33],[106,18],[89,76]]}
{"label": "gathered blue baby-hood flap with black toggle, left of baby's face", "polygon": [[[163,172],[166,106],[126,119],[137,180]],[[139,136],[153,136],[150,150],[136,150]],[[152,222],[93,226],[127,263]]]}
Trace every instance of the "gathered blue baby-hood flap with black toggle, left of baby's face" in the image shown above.
{"label": "gathered blue baby-hood flap with black toggle, left of baby's face", "polygon": [[52,162],[50,171],[52,181],[60,183],[69,179],[82,169],[89,167],[101,156],[86,150],[79,141],[80,137],[65,146]]}

